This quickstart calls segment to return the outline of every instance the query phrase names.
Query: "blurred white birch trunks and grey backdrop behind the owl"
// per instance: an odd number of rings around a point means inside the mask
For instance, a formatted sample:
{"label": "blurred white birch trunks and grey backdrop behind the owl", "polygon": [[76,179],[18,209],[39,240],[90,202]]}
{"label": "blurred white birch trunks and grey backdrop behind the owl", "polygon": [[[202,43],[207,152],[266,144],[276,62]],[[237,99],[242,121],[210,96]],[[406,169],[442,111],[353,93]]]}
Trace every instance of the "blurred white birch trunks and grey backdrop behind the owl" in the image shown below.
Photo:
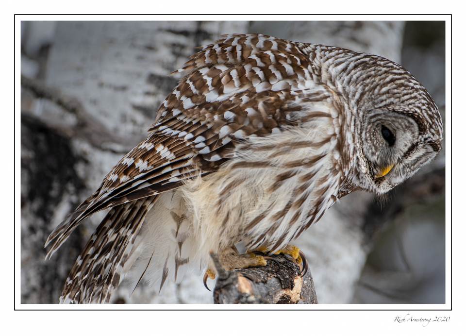
{"label": "blurred white birch trunks and grey backdrop behind the owl", "polygon": [[[262,33],[386,57],[427,88],[444,117],[443,21],[22,21],[21,303],[57,303],[104,213],[45,262],[44,242],[140,140],[176,84],[168,74],[220,34]],[[445,302],[445,151],[383,199],[352,193],[295,242],[319,303]],[[212,303],[198,275],[126,283],[114,303]]]}

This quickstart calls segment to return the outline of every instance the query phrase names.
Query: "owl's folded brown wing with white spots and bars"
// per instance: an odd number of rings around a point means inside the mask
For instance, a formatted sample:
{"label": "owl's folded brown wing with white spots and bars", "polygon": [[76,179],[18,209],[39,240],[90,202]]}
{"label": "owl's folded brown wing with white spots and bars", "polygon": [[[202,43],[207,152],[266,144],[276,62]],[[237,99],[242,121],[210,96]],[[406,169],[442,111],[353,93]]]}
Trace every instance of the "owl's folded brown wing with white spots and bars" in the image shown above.
{"label": "owl's folded brown wing with white spots and bars", "polygon": [[203,47],[183,68],[148,137],[107,174],[99,189],[49,236],[47,257],[93,213],[176,188],[215,171],[251,136],[299,122],[301,107],[330,98],[305,45],[232,34]]}

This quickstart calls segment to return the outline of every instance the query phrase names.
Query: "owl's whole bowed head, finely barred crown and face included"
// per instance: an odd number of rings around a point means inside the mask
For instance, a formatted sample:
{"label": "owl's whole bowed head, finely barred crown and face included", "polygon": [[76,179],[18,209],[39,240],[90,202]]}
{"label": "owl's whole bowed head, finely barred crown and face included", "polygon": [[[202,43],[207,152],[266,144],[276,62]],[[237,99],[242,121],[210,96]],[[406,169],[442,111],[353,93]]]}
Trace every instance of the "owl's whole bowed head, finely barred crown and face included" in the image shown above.
{"label": "owl's whole bowed head, finely barred crown and face included", "polygon": [[407,70],[382,57],[350,70],[348,89],[360,120],[355,185],[383,194],[412,176],[441,150],[440,113]]}

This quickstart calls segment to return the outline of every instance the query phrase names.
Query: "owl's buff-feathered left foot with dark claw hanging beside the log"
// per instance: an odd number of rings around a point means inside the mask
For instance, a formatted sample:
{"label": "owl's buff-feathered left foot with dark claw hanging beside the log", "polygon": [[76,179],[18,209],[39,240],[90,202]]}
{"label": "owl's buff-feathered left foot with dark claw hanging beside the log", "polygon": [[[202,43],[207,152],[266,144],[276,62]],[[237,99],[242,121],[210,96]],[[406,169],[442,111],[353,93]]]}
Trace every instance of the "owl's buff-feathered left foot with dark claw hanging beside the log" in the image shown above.
{"label": "owl's buff-feathered left foot with dark claw hanging beside the log", "polygon": [[[238,250],[233,246],[231,248],[225,249],[224,251],[218,254],[218,259],[222,264],[222,267],[225,270],[231,269],[247,269],[250,267],[257,267],[257,266],[267,266],[267,257],[262,255],[255,255],[252,252],[239,254]],[[207,279],[215,279],[216,272],[214,269],[209,268],[204,273],[204,286],[208,289],[207,286]]]}

